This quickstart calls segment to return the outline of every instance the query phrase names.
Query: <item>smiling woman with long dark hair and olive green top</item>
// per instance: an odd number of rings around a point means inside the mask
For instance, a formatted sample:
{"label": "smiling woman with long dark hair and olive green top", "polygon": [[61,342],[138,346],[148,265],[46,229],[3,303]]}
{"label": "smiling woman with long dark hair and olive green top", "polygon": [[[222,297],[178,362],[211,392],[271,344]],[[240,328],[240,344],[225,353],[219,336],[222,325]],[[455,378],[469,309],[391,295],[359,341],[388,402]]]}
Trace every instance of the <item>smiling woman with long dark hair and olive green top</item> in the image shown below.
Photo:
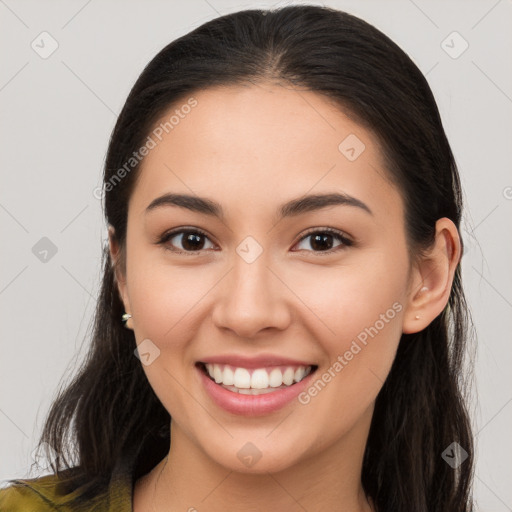
{"label": "smiling woman with long dark hair and olive green top", "polygon": [[461,188],[396,44],[324,7],[205,23],[134,85],[104,191],[54,474],[1,510],[473,510]]}

